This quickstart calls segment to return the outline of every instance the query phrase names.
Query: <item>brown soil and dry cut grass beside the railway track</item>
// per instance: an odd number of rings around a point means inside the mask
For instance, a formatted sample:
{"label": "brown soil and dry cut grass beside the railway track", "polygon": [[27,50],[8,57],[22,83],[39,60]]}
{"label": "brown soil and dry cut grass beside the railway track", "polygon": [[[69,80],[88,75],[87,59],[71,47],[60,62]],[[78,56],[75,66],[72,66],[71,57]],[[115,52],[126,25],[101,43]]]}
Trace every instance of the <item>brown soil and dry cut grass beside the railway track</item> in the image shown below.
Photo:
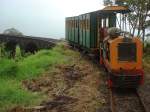
{"label": "brown soil and dry cut grass beside the railway track", "polygon": [[58,65],[54,72],[48,71],[22,84],[48,99],[34,107],[15,107],[11,112],[105,112],[107,89],[103,73],[84,57],[73,65]]}

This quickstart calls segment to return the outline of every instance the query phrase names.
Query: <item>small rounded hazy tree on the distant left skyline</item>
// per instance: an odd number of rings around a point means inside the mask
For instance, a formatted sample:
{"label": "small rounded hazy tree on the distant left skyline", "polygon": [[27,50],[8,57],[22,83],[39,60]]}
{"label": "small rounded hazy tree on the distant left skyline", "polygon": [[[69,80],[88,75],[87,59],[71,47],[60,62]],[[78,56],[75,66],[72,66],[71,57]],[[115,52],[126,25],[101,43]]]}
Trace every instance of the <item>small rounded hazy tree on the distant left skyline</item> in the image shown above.
{"label": "small rounded hazy tree on the distant left skyline", "polygon": [[13,35],[13,36],[23,36],[23,34],[19,30],[15,29],[15,28],[6,29],[3,32],[3,34],[5,34],[5,35]]}

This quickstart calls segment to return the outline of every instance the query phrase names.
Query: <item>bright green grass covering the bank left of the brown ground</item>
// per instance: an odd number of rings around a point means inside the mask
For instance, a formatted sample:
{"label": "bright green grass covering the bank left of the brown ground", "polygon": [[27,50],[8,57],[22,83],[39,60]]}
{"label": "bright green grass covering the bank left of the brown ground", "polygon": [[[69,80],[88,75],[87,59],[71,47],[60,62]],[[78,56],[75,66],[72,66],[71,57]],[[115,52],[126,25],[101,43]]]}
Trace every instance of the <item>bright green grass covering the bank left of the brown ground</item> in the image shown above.
{"label": "bright green grass covering the bank left of the brown ground", "polygon": [[31,93],[22,86],[23,80],[40,76],[44,71],[54,70],[58,64],[70,64],[75,52],[65,48],[63,44],[51,50],[42,50],[35,55],[15,60],[0,59],[0,112],[16,105],[31,106],[39,104],[45,97],[40,93]]}

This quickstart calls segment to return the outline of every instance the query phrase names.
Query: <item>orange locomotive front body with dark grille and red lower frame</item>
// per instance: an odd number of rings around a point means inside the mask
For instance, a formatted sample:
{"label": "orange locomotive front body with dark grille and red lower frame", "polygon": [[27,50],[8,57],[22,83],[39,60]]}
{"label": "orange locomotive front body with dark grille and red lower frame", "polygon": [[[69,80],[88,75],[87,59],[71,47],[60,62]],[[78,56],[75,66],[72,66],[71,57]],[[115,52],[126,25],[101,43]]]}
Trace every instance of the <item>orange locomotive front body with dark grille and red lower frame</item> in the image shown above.
{"label": "orange locomotive front body with dark grille and red lower frame", "polygon": [[108,71],[109,87],[138,87],[143,83],[142,42],[123,36],[104,39],[101,62]]}

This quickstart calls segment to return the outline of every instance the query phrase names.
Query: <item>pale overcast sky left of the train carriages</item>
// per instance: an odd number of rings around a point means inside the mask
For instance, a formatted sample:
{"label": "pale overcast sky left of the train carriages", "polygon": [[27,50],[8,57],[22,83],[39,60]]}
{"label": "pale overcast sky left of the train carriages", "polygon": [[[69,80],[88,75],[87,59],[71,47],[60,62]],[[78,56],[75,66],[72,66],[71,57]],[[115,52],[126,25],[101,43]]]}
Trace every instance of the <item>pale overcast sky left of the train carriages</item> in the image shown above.
{"label": "pale overcast sky left of the train carriages", "polygon": [[0,33],[16,28],[25,35],[62,38],[65,17],[103,8],[103,0],[0,0]]}

